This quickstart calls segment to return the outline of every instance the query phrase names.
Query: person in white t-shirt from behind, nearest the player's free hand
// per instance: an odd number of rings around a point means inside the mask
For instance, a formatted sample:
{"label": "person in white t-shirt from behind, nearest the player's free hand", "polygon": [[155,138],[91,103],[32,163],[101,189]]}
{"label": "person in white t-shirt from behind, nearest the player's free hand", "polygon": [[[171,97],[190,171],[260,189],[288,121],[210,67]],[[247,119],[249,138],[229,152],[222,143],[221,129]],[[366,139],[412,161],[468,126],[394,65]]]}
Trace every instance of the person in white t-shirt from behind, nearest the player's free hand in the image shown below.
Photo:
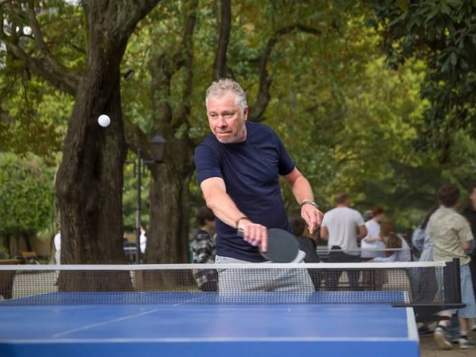
{"label": "person in white t-shirt from behind, nearest the player's free hand", "polygon": [[[362,215],[349,208],[347,194],[339,193],[334,199],[335,208],[324,214],[321,223],[321,238],[328,241],[330,263],[355,263],[360,261],[357,240],[367,234]],[[358,233],[357,233],[358,232]],[[339,278],[343,271],[333,271],[326,278],[328,289],[337,290]],[[359,272],[348,271],[352,290],[359,289]]]}

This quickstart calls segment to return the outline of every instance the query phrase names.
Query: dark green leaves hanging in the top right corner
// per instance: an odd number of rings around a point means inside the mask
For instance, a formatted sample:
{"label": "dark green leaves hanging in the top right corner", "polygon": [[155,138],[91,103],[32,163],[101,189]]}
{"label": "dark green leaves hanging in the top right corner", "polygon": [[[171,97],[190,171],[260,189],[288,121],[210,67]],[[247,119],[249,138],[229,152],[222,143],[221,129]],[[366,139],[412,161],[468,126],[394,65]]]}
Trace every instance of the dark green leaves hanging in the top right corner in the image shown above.
{"label": "dark green leaves hanging in the top right corner", "polygon": [[[463,0],[413,1],[408,6],[376,2],[373,22],[384,35],[388,63],[396,67],[413,57],[428,71],[422,97],[430,102],[426,125],[416,141],[450,159],[458,129],[476,134],[476,4]],[[403,3],[403,1],[399,1]]]}

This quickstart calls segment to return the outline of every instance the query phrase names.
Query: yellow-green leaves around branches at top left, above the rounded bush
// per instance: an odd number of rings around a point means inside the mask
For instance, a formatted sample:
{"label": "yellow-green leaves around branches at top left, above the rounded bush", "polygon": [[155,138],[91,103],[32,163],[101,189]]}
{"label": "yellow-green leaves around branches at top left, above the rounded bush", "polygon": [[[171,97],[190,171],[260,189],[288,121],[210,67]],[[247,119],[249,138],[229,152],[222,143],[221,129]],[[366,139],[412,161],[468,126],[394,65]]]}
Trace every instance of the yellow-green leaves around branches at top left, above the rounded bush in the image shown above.
{"label": "yellow-green leaves around branches at top left, above the rounded bush", "polygon": [[[37,1],[34,1],[37,3]],[[26,4],[0,6],[3,32],[0,43],[0,151],[32,152],[54,161],[61,150],[73,100],[35,75],[31,65],[6,43],[21,45],[31,57],[43,57],[32,34]],[[66,1],[45,1],[36,12],[43,41],[52,62],[81,70],[86,61],[81,9]]]}

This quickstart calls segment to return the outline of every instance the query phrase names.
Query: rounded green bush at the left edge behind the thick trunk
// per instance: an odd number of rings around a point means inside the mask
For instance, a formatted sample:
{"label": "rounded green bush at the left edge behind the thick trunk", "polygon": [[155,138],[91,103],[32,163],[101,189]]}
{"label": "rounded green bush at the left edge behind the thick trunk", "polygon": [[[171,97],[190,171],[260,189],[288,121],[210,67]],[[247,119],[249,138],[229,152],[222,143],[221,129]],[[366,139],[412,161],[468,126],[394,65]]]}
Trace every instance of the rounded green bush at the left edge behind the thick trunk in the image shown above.
{"label": "rounded green bush at the left edge behind the thick trunk", "polygon": [[0,234],[32,234],[51,223],[53,176],[38,156],[0,154]]}

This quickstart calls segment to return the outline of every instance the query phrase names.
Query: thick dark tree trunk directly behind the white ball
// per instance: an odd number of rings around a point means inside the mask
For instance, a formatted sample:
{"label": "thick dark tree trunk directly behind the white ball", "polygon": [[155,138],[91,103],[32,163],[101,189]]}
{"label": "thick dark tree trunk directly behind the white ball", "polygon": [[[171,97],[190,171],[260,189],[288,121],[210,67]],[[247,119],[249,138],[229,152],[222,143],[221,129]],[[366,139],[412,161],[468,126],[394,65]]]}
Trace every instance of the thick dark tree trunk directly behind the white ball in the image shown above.
{"label": "thick dark tree trunk directly behind the white ball", "polygon": [[[127,263],[122,247],[122,187],[126,140],[120,65],[130,34],[157,0],[84,1],[88,62],[75,96],[63,160],[57,173],[61,212],[61,263]],[[97,123],[110,116],[106,128]],[[128,272],[118,273],[119,275]],[[120,276],[61,274],[60,289],[114,289]],[[125,277],[125,276],[124,276]],[[126,281],[128,279],[126,278]],[[130,279],[129,279],[130,281]],[[121,283],[121,290],[132,286]],[[129,286],[126,286],[129,285]]]}

